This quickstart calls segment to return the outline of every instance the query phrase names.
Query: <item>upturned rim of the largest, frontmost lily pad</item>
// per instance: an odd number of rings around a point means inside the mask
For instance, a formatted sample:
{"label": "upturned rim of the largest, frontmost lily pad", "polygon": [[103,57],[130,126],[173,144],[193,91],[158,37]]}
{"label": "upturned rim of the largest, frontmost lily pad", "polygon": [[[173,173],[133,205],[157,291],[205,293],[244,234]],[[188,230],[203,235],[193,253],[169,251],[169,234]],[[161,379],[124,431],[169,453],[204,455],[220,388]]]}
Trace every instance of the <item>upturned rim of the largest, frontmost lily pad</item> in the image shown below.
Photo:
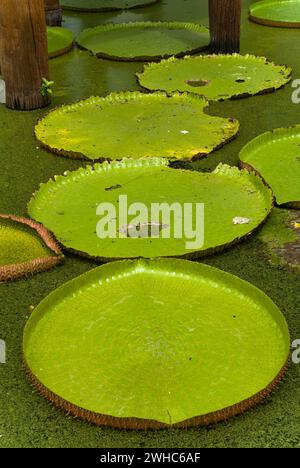
{"label": "upturned rim of the largest, frontmost lily pad", "polygon": [[[262,388],[260,391],[254,395],[238,402],[233,405],[227,406],[222,409],[215,410],[213,412],[205,413],[199,416],[194,416],[189,419],[185,419],[176,423],[166,423],[154,419],[145,419],[140,417],[118,417],[112,416],[109,414],[101,414],[100,412],[95,412],[88,410],[86,408],[78,406],[71,401],[66,400],[63,396],[58,395],[55,391],[50,390],[47,386],[41,382],[41,380],[35,375],[34,371],[31,369],[29,362],[27,361],[27,346],[28,339],[33,330],[33,328],[38,323],[39,319],[47,313],[47,308],[51,308],[51,304],[55,304],[58,301],[62,301],[65,294],[72,294],[72,291],[75,291],[80,285],[88,284],[89,281],[92,281],[94,277],[97,279],[99,277],[103,278],[115,278],[116,276],[122,277],[122,270],[127,271],[128,268],[134,268],[136,264],[147,269],[153,268],[169,268],[172,271],[172,276],[176,271],[179,272],[190,272],[193,270],[195,273],[196,270],[199,270],[199,277],[201,277],[201,270],[203,272],[209,273],[209,277],[214,277],[214,281],[220,282],[224,285],[228,285],[233,290],[243,291],[243,294],[249,297],[256,297],[256,300],[261,303],[261,305],[269,310],[269,313],[272,314],[274,321],[278,323],[280,318],[283,339],[285,340],[285,356],[282,360],[282,364],[278,366],[280,370],[275,374],[275,377],[269,382],[266,387]],[[165,267],[164,267],[165,265]],[[129,266],[129,267],[128,267]],[[205,274],[205,273],[204,273]],[[100,286],[101,287],[101,286]],[[276,318],[277,317],[277,318]],[[271,301],[271,299],[260,289],[244,281],[231,273],[224,272],[217,268],[211,267],[205,264],[197,264],[194,262],[184,261],[184,260],[174,260],[174,259],[148,259],[148,260],[123,260],[118,262],[113,262],[109,265],[101,265],[98,268],[90,270],[89,272],[69,281],[68,283],[62,285],[60,288],[53,291],[49,296],[47,296],[39,306],[33,311],[33,315],[29,318],[27,322],[24,337],[23,337],[23,363],[25,372],[37,389],[37,391],[44,396],[48,401],[53,403],[55,406],[61,410],[71,414],[80,419],[86,420],[90,423],[96,424],[98,426],[107,426],[118,429],[130,429],[130,430],[157,430],[157,429],[170,429],[170,428],[190,428],[197,426],[207,426],[209,424],[215,424],[220,421],[227,420],[231,417],[240,415],[245,411],[255,407],[257,404],[262,402],[273,390],[280,384],[284,374],[288,368],[289,364],[289,342],[290,334],[286,320],[278,307]]]}

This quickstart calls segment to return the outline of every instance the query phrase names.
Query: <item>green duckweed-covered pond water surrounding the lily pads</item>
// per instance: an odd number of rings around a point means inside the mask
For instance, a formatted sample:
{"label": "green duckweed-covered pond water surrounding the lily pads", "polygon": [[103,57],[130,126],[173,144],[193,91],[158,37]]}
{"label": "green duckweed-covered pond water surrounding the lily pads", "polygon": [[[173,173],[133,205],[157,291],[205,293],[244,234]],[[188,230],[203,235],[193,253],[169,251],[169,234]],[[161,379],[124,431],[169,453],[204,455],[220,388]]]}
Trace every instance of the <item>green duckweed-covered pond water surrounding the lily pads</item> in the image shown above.
{"label": "green duckweed-covered pond water surrounding the lily pads", "polygon": [[[295,49],[300,31],[268,28],[248,21],[250,1],[243,2],[242,53],[265,55],[294,69],[300,77],[300,55]],[[64,14],[63,25],[75,34],[100,23],[145,20],[196,21],[208,25],[205,0],[163,0],[127,12]],[[96,59],[74,49],[51,60],[55,81],[52,107],[111,91],[138,90],[135,73],[142,63]],[[288,84],[274,94],[215,103],[213,115],[235,117],[241,123],[238,138],[202,161],[182,165],[213,170],[219,162],[235,165],[240,149],[260,133],[299,123],[300,104],[292,103]],[[59,158],[38,148],[33,134],[37,119],[47,110],[13,112],[0,106],[0,211],[26,215],[26,205],[40,182],[80,167],[81,161]],[[299,270],[272,266],[257,254],[259,240],[205,260],[260,287],[280,307],[292,340],[300,337]],[[66,262],[30,280],[0,285],[0,338],[6,341],[7,363],[0,365],[0,447],[300,447],[300,365],[291,364],[284,383],[254,410],[207,428],[162,432],[129,432],[94,427],[73,419],[33,392],[22,369],[21,343],[29,306],[95,264],[68,255]],[[222,360],[222,356],[220,356]]]}

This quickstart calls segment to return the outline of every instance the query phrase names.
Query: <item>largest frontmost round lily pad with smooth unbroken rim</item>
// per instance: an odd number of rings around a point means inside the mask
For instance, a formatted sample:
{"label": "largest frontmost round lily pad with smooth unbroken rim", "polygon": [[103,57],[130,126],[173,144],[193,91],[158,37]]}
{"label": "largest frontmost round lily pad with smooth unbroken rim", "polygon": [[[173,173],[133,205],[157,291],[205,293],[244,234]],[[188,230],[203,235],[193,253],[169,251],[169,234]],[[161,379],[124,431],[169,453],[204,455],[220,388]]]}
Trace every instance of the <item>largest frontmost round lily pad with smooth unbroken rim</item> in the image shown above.
{"label": "largest frontmost round lily pad with smooth unbroken rim", "polygon": [[279,383],[289,346],[286,321],[263,292],[183,260],[89,271],[33,311],[23,342],[44,396],[128,429],[210,424],[247,410]]}

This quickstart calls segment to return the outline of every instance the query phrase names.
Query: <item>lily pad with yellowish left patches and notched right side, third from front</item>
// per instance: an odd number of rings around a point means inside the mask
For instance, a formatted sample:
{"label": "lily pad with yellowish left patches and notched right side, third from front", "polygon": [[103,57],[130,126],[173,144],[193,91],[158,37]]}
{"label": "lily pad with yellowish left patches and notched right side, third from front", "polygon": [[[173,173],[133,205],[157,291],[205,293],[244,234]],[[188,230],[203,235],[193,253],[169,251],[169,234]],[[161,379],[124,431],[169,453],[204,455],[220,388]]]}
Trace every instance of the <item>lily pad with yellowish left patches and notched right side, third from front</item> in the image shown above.
{"label": "lily pad with yellowish left patches and notched right side, third from front", "polygon": [[207,115],[198,96],[139,92],[91,97],[50,112],[35,128],[39,142],[64,156],[193,159],[232,139],[234,119]]}

